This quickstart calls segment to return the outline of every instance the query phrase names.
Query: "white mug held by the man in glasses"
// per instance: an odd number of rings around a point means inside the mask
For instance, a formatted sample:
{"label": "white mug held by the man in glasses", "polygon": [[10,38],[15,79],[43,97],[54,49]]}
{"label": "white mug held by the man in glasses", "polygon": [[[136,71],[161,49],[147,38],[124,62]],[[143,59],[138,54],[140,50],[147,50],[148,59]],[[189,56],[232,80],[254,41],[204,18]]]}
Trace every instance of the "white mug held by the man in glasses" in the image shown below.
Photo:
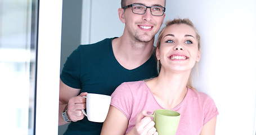
{"label": "white mug held by the man in glasses", "polygon": [[84,110],[82,111],[83,114],[87,116],[88,120],[98,123],[104,122],[109,112],[111,96],[87,93],[87,95],[83,97],[86,98],[87,113]]}

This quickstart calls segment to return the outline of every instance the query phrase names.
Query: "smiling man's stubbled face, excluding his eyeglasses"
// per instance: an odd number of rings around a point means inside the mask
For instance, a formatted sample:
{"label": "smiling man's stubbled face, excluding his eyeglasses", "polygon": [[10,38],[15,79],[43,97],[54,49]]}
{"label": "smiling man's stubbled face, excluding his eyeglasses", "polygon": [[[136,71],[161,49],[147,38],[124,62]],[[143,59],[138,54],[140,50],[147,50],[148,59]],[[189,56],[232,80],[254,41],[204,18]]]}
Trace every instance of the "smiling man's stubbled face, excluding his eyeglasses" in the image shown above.
{"label": "smiling man's stubbled face, excluding his eyeglasses", "polygon": [[[145,6],[162,6],[165,7],[164,0],[127,0],[126,5],[129,4],[143,4]],[[134,37],[140,42],[150,42],[154,39],[155,34],[158,33],[161,25],[163,24],[164,16],[154,16],[147,8],[143,15],[132,12],[132,7],[128,7],[124,11],[125,30],[131,37]]]}

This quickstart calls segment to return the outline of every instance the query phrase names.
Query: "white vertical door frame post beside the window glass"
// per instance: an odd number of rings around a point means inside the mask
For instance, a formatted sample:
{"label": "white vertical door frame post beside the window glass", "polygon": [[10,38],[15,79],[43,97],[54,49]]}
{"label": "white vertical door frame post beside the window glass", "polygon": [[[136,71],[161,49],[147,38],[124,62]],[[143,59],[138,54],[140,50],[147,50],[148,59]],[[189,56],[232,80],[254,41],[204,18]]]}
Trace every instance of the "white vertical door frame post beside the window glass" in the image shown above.
{"label": "white vertical door frame post beside the window glass", "polygon": [[62,0],[39,1],[35,134],[58,134]]}

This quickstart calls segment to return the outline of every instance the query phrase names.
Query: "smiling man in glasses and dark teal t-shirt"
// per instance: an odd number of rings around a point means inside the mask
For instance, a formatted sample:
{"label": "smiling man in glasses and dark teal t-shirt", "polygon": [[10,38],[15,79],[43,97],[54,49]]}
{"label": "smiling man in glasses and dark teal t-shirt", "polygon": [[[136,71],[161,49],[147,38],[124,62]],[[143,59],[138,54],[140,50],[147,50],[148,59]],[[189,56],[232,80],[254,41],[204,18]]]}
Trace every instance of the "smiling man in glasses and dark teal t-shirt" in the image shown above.
{"label": "smiling man in glasses and dark teal t-shirt", "polygon": [[[165,0],[122,0],[119,38],[79,46],[66,61],[60,77],[59,125],[71,122],[65,134],[100,134],[102,123],[82,113],[87,93],[111,95],[123,82],[156,77],[154,37],[165,17]],[[68,114],[68,115],[67,115]],[[63,118],[62,118],[63,115]],[[65,120],[64,120],[65,119]]]}

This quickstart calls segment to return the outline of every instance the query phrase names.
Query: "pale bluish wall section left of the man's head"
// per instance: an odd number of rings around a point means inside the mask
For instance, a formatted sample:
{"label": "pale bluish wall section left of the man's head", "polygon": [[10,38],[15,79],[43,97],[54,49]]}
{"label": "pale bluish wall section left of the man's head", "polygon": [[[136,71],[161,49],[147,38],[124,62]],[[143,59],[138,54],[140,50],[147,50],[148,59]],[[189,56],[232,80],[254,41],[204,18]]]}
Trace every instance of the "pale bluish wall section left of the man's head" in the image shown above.
{"label": "pale bluish wall section left of the man's head", "polygon": [[81,44],[120,37],[124,29],[124,24],[118,17],[118,8],[120,7],[121,1],[116,0],[84,0]]}

